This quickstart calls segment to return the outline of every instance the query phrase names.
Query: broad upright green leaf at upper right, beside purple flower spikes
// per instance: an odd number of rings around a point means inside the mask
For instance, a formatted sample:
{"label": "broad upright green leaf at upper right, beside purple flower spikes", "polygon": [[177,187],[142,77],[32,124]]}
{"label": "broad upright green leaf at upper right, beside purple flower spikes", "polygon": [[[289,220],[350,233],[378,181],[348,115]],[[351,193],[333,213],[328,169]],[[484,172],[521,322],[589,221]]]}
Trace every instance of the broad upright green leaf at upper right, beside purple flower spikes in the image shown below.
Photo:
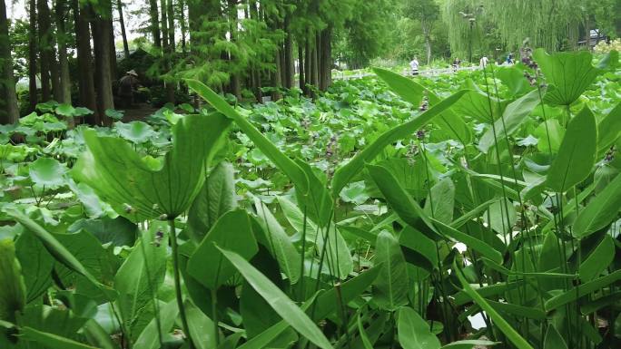
{"label": "broad upright green leaf at upper right, beside purple flower spikes", "polygon": [[602,72],[591,64],[591,53],[586,51],[550,55],[537,49],[533,56],[547,83],[553,86],[544,96],[544,102],[550,104],[569,105],[576,101]]}

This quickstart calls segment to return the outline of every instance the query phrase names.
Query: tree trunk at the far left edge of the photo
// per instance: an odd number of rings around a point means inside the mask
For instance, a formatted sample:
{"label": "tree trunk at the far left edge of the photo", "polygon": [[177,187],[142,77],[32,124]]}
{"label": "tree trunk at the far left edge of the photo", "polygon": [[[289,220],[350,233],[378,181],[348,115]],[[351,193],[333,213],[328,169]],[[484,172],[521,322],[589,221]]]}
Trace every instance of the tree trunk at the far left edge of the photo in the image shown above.
{"label": "tree trunk at the far left edge of the photo", "polygon": [[5,113],[2,114],[1,124],[16,123],[19,121],[19,108],[17,106],[17,94],[15,93],[15,78],[13,76],[13,60],[11,59],[11,45],[8,44],[8,20],[6,19],[5,0],[0,0],[0,62],[2,62],[2,84],[5,92]]}

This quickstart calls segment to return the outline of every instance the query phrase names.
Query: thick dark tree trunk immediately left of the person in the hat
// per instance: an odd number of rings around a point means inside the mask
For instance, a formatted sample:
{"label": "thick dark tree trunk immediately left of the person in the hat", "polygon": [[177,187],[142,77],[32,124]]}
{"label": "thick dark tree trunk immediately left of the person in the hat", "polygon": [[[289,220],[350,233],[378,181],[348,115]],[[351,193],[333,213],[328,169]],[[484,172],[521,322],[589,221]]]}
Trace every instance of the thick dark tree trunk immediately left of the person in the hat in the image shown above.
{"label": "thick dark tree trunk immediately left of the person in the hat", "polygon": [[112,18],[112,4],[104,1],[104,13],[95,15],[93,22],[93,44],[95,59],[95,85],[97,90],[97,108],[99,109],[100,123],[110,125],[112,122],[105,114],[107,109],[114,109],[112,85],[112,59],[110,57],[110,19]]}

